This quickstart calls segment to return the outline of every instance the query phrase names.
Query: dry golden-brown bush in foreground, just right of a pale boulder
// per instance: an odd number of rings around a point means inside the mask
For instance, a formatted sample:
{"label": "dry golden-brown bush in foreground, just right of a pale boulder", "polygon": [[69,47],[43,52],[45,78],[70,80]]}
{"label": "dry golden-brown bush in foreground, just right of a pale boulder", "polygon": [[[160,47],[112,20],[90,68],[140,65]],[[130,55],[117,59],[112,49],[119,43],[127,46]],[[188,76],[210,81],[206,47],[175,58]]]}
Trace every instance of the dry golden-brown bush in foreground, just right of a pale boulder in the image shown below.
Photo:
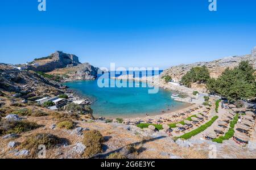
{"label": "dry golden-brown bush in foreground, just right of a pale boulder", "polygon": [[89,130],[84,132],[84,139],[82,143],[86,146],[84,157],[91,158],[96,154],[103,152],[102,144],[104,142],[104,137],[97,130]]}

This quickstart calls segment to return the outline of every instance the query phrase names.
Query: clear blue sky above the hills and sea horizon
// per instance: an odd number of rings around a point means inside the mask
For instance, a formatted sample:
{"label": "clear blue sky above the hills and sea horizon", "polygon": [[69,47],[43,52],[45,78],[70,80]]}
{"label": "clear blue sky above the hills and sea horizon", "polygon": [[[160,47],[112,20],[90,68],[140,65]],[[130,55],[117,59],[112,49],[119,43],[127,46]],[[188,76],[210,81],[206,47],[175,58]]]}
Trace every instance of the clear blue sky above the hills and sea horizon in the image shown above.
{"label": "clear blue sky above the hills and sea horizon", "polygon": [[62,50],[94,66],[166,68],[249,54],[256,1],[1,0],[0,62],[25,63]]}

